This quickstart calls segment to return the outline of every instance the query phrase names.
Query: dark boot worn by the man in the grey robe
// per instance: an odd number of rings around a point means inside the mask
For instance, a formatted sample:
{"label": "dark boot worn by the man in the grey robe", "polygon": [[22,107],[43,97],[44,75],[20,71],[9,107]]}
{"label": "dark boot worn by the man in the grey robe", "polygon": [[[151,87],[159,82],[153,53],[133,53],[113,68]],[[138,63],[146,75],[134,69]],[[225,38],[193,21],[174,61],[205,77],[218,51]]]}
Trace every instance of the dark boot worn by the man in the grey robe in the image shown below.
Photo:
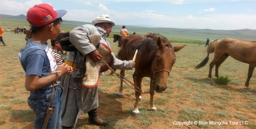
{"label": "dark boot worn by the man in the grey robe", "polygon": [[101,120],[98,116],[97,108],[92,109],[91,111],[88,112],[88,123],[92,122],[94,124],[97,124],[99,126],[107,126],[109,123],[107,121]]}

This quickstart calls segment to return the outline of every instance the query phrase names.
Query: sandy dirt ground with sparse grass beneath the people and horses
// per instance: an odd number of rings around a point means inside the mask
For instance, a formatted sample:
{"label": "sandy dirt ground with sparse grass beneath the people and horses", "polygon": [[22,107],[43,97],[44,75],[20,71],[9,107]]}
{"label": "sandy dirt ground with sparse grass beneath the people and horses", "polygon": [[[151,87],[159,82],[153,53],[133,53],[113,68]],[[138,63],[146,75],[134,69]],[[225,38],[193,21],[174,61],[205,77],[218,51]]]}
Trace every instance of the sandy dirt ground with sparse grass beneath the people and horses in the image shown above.
{"label": "sandy dirt ground with sparse grass beneath the people and horses", "polygon": [[[180,44],[180,43],[179,43]],[[32,129],[34,128],[35,115],[28,107],[27,98],[29,92],[24,88],[25,73],[18,59],[20,47],[16,43],[7,44],[5,49],[13,49],[14,56],[3,54],[3,46],[0,46],[2,65],[0,68],[0,128],[1,129]],[[116,44],[115,44],[116,45]],[[176,44],[175,44],[176,45]],[[250,82],[250,88],[244,86],[248,65],[239,63],[241,68],[232,69],[232,65],[238,64],[232,59],[219,71],[222,75],[230,75],[233,81],[228,85],[215,84],[207,77],[209,69],[195,71],[192,66],[203,60],[204,55],[199,57],[196,63],[183,63],[181,60],[193,62],[190,51],[198,51],[198,47],[204,45],[188,45],[184,50],[177,53],[177,62],[173,66],[169,76],[169,86],[163,93],[155,93],[154,100],[158,112],[150,112],[149,94],[143,94],[143,101],[139,102],[141,116],[133,118],[131,112],[134,105],[134,90],[127,85],[124,87],[124,98],[118,98],[120,81],[116,76],[108,76],[110,71],[100,76],[99,83],[99,116],[110,123],[109,126],[100,127],[88,124],[87,114],[81,115],[76,129],[255,129],[256,128],[256,77]],[[113,47],[115,49],[116,47]],[[188,52],[188,53],[186,53]],[[10,55],[11,55],[10,54]],[[211,55],[213,57],[213,55]],[[5,57],[10,57],[6,59]],[[233,63],[232,63],[233,61]],[[231,62],[231,63],[230,63]],[[209,64],[209,63],[208,63]],[[227,68],[225,67],[227,66]],[[231,68],[230,68],[231,67]],[[8,72],[6,72],[8,71]],[[119,73],[120,71],[117,70]],[[132,81],[131,71],[126,71],[126,77]],[[233,75],[234,73],[234,75]],[[149,90],[149,79],[143,79],[143,91]],[[187,120],[194,116],[182,116],[184,109],[201,110],[203,116],[196,119],[208,124],[177,125],[176,122]],[[185,111],[186,112],[186,111]],[[188,114],[188,112],[186,112]],[[209,121],[222,122],[209,124]],[[230,121],[232,121],[230,123]],[[184,122],[184,121],[183,121]],[[194,121],[193,121],[194,122]],[[225,124],[227,122],[227,124]]]}

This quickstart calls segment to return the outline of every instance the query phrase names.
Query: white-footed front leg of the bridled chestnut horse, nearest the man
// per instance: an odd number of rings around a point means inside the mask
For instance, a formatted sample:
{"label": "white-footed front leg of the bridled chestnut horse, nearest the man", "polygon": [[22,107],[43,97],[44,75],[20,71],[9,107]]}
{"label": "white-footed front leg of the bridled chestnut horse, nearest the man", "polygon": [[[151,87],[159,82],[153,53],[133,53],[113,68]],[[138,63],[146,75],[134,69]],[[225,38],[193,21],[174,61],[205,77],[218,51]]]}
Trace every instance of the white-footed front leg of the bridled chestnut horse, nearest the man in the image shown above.
{"label": "white-footed front leg of the bridled chestnut horse, nearest the man", "polygon": [[[136,70],[135,70],[136,71]],[[135,72],[134,72],[135,74]],[[141,81],[142,81],[142,77],[135,77],[133,74],[133,81],[134,81],[134,84],[136,85],[136,87],[134,87],[136,90],[138,91],[141,91]],[[132,116],[135,117],[135,118],[138,118],[139,117],[139,96],[141,96],[141,93],[138,92],[138,91],[135,91],[135,95],[136,95],[136,100],[135,100],[135,104],[134,104],[134,109],[133,109],[133,112],[132,112]]]}

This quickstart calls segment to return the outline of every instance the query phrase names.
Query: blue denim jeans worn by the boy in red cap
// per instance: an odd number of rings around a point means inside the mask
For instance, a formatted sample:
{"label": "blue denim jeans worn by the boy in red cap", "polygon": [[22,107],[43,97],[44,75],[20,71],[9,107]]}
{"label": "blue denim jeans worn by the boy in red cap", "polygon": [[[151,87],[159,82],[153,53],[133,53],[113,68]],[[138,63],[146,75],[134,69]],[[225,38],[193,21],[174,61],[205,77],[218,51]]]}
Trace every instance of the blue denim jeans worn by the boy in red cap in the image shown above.
{"label": "blue denim jeans worn by the boy in red cap", "polygon": [[[61,113],[63,101],[63,88],[61,85],[53,88],[52,113],[47,123],[47,129],[61,129]],[[52,97],[52,88],[30,91],[28,105],[36,114],[35,129],[42,129],[46,112]],[[51,107],[51,105],[50,105]]]}

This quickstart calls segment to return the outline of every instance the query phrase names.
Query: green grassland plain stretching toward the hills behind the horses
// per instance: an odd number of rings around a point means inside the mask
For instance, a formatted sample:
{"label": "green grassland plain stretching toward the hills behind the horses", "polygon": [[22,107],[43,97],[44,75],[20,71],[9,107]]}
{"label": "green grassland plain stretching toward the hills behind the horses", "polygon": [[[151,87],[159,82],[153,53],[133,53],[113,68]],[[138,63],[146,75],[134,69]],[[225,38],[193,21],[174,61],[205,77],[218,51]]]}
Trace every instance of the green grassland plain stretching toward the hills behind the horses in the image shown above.
{"label": "green grassland plain stretching toward the hills behind the horses", "polygon": [[[2,28],[8,28],[13,30],[15,27],[19,28],[29,28],[28,21],[24,19],[8,19],[2,18],[0,20]],[[63,20],[62,30],[61,31],[71,31],[73,28],[78,27],[84,24],[92,24],[89,22],[78,22]],[[121,25],[115,25],[112,27],[112,33],[110,34],[119,34]],[[162,36],[165,36],[172,42],[185,42],[185,43],[195,43],[195,44],[205,44],[206,39],[209,38],[210,41],[214,39],[223,39],[223,38],[237,38],[248,41],[256,40],[256,30],[243,29],[243,30],[210,30],[210,29],[178,29],[178,28],[147,28],[147,27],[134,27],[126,26],[126,29],[129,31],[130,35],[133,32],[136,32],[138,35],[145,35],[148,32],[159,33]],[[112,36],[110,35],[110,36]]]}

